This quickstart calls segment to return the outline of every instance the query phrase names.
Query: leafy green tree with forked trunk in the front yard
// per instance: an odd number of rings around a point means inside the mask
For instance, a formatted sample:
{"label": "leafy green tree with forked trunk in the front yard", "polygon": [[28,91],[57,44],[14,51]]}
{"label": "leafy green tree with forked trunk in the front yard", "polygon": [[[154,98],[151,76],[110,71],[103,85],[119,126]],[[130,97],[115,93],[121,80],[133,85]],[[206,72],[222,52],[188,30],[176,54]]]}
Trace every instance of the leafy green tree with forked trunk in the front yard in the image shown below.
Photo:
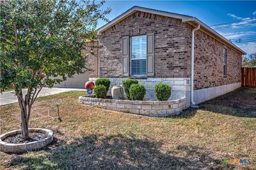
{"label": "leafy green tree with forked trunk in the front yard", "polygon": [[[22,137],[28,139],[31,107],[44,86],[86,71],[83,46],[97,38],[104,1],[1,1],[1,92],[13,88],[20,107]],[[22,88],[28,88],[26,95]]]}

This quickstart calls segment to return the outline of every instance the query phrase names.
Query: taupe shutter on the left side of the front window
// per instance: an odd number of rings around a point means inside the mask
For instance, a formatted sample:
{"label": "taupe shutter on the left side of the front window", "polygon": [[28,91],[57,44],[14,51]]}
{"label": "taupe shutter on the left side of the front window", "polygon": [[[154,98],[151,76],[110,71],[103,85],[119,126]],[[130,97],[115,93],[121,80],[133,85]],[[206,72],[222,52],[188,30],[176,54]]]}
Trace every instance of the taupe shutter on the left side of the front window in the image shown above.
{"label": "taupe shutter on the left side of the front window", "polygon": [[129,36],[122,39],[123,76],[129,76]]}

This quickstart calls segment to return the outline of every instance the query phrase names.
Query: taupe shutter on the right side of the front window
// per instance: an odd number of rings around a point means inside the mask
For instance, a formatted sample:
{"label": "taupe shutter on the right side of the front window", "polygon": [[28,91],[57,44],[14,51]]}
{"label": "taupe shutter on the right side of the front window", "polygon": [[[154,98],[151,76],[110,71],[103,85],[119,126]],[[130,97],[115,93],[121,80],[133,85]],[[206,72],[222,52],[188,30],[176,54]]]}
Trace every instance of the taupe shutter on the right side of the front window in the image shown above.
{"label": "taupe shutter on the right side of the front window", "polygon": [[155,39],[154,33],[147,34],[147,75],[154,76],[155,72]]}

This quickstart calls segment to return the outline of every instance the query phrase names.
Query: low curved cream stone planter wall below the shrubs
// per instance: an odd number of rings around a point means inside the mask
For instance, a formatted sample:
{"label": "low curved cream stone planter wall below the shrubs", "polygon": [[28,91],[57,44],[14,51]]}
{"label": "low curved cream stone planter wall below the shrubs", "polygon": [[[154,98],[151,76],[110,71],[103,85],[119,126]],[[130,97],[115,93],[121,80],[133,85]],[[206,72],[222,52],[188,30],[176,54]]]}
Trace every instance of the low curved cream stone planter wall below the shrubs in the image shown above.
{"label": "low curved cream stone planter wall below the shrubs", "polygon": [[172,116],[185,109],[185,97],[169,101],[131,101],[93,98],[92,95],[79,97],[79,103],[102,107],[111,111],[131,112],[146,116]]}

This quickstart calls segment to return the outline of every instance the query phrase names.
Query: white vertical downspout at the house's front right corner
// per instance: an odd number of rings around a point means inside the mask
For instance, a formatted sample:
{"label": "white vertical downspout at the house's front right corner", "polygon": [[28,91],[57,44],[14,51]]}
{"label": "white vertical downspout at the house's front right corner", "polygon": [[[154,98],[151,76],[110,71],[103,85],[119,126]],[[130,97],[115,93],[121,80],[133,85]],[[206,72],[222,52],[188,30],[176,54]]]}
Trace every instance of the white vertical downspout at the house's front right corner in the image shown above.
{"label": "white vertical downspout at the house's front right corner", "polygon": [[195,31],[200,29],[200,24],[192,30],[191,34],[191,79],[190,79],[190,104],[191,107],[198,107],[194,102],[194,50],[195,50]]}

